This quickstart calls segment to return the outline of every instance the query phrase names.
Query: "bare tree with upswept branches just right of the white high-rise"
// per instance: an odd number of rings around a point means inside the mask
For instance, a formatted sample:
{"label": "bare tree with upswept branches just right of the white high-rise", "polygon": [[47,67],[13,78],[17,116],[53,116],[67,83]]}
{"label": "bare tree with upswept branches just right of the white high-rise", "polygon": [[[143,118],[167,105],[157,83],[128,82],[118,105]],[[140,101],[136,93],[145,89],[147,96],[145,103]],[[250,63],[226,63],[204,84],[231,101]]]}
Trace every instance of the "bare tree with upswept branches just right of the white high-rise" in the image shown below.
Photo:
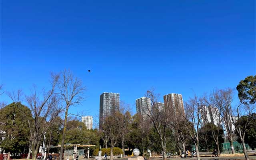
{"label": "bare tree with upswept branches just right of the white high-rise", "polygon": [[[234,135],[234,126],[232,124],[232,107],[231,104],[233,102],[233,94],[232,89],[227,88],[225,90],[214,90],[212,94],[210,94],[210,103],[218,108],[220,119],[224,122],[224,128],[226,130],[226,135],[228,141],[231,146],[232,154],[235,153],[233,146],[233,135]],[[216,135],[215,137],[217,137]]]}

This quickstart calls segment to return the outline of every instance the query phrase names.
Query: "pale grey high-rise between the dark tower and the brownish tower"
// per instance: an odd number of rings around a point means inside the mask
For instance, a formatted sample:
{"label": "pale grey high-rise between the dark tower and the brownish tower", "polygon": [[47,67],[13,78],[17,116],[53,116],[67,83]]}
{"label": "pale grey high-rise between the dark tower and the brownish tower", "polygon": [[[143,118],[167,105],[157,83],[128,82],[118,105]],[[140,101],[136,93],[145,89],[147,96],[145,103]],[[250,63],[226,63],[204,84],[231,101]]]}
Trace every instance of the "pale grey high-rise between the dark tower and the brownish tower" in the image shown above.
{"label": "pale grey high-rise between the dark tower and the brownish tower", "polygon": [[136,99],[136,113],[142,116],[143,120],[148,120],[148,114],[151,112],[150,98],[141,97]]}

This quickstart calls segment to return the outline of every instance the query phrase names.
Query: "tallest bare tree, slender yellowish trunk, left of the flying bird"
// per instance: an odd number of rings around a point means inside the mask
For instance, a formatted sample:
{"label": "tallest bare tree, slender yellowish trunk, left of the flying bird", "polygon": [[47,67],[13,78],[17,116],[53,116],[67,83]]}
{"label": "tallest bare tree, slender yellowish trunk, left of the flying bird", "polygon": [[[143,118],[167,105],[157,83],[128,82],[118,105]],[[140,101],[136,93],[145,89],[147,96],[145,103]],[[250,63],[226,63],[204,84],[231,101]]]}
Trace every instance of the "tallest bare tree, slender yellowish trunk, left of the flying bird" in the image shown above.
{"label": "tallest bare tree, slender yellowish trunk, left of the flying bird", "polygon": [[68,109],[70,106],[79,105],[84,100],[85,90],[86,88],[83,86],[82,81],[75,77],[69,70],[60,72],[60,78],[58,80],[58,92],[65,110],[62,141],[60,147],[60,160],[62,160],[63,157]]}

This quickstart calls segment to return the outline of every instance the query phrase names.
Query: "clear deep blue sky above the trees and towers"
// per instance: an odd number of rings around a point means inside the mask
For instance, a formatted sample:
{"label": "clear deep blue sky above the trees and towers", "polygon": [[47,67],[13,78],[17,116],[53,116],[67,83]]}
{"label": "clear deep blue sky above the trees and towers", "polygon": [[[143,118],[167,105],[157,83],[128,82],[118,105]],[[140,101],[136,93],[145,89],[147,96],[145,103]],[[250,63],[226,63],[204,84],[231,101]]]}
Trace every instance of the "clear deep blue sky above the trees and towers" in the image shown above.
{"label": "clear deep blue sky above the trees and towers", "polygon": [[255,34],[255,0],[1,0],[0,83],[27,94],[69,68],[88,89],[70,112],[95,116],[102,92],[135,112],[152,87],[184,100],[235,88],[256,74]]}

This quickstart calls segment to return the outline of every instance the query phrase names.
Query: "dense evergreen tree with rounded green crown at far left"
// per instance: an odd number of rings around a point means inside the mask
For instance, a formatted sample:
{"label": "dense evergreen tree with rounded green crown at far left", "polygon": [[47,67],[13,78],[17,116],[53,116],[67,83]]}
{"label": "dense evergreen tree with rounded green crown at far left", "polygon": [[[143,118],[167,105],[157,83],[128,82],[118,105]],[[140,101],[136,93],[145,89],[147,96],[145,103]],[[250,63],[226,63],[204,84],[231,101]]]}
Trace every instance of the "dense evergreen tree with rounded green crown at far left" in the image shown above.
{"label": "dense evergreen tree with rounded green crown at far left", "polygon": [[20,102],[13,102],[0,109],[0,115],[0,148],[6,152],[23,152],[30,136],[24,116],[32,118],[31,111]]}

